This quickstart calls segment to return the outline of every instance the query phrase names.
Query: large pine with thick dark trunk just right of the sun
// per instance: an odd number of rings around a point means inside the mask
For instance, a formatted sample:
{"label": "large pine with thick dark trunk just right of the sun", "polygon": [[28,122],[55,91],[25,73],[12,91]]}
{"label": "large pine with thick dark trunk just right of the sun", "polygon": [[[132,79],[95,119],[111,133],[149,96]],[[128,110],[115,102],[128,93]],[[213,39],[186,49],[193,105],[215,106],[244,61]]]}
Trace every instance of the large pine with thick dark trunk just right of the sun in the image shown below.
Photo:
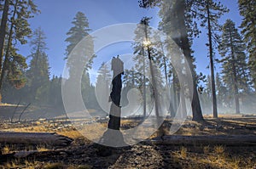
{"label": "large pine with thick dark trunk just right of the sun", "polygon": [[[196,29],[192,29],[191,18],[188,14],[188,2],[185,0],[175,1],[142,1],[143,7],[154,5],[155,3],[160,4],[160,17],[162,18],[162,29],[168,36],[171,36],[177,46],[183,50],[183,54],[189,63],[189,69],[193,76],[193,99],[192,99],[192,112],[194,121],[203,121],[201,113],[201,104],[197,93],[195,65],[193,65],[194,59],[191,53],[191,39],[189,35],[196,32]],[[148,4],[148,5],[147,5]]]}

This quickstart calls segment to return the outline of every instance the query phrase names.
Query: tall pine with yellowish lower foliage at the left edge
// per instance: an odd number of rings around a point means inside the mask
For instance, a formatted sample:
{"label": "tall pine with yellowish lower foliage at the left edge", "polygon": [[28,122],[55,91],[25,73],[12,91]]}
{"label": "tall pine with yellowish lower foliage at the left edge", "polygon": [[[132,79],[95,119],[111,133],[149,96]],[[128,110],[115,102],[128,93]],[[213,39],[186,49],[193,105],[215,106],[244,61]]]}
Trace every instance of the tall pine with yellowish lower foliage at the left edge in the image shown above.
{"label": "tall pine with yellowish lower foliage at the left edge", "polygon": [[[29,37],[32,32],[27,20],[37,13],[37,6],[32,0],[6,0],[4,3],[0,32],[0,91],[3,82],[6,82],[5,77],[13,80],[14,85],[24,86],[22,73],[26,69],[26,59],[17,54],[18,49],[15,48],[15,45],[17,42],[20,42],[21,45],[26,44],[26,37]],[[3,48],[4,43],[6,44],[5,48]]]}

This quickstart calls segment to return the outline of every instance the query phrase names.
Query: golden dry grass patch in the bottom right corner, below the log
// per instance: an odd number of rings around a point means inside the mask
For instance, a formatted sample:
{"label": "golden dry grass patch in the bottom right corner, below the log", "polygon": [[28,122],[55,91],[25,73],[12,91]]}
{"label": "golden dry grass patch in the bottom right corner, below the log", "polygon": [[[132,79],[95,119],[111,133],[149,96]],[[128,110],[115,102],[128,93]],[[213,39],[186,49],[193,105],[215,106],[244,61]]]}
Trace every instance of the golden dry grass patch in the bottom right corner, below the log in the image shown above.
{"label": "golden dry grass patch in the bottom right corner, below the log", "polygon": [[[187,148],[181,147],[180,150],[172,152],[173,162],[181,165],[183,168],[252,168],[256,162],[250,160],[247,156],[230,155],[223,146],[206,146],[206,153],[196,153],[188,151]],[[211,166],[211,167],[209,167]]]}

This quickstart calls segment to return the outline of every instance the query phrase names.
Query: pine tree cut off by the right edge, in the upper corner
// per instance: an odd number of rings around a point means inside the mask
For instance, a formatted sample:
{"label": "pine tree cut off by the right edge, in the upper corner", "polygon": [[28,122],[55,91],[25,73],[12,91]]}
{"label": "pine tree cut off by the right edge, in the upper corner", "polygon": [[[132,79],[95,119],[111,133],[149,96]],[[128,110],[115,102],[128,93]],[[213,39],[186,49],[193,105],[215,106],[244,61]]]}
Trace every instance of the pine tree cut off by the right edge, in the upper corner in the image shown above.
{"label": "pine tree cut off by the right edge, in the upper corner", "polygon": [[249,52],[250,73],[256,88],[256,2],[254,0],[239,0],[240,14],[243,16],[241,23],[244,40],[247,42]]}

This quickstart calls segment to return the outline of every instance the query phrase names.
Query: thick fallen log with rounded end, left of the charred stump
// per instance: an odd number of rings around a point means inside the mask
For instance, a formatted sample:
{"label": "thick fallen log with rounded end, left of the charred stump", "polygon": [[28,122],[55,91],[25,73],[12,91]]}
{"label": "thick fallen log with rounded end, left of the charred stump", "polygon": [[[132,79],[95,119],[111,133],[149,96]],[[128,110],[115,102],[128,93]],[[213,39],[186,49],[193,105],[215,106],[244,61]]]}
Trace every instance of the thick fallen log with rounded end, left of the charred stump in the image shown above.
{"label": "thick fallen log with rounded end, left of the charred stump", "polygon": [[55,132],[0,132],[0,144],[45,144],[64,147],[72,142],[72,138],[67,138]]}

